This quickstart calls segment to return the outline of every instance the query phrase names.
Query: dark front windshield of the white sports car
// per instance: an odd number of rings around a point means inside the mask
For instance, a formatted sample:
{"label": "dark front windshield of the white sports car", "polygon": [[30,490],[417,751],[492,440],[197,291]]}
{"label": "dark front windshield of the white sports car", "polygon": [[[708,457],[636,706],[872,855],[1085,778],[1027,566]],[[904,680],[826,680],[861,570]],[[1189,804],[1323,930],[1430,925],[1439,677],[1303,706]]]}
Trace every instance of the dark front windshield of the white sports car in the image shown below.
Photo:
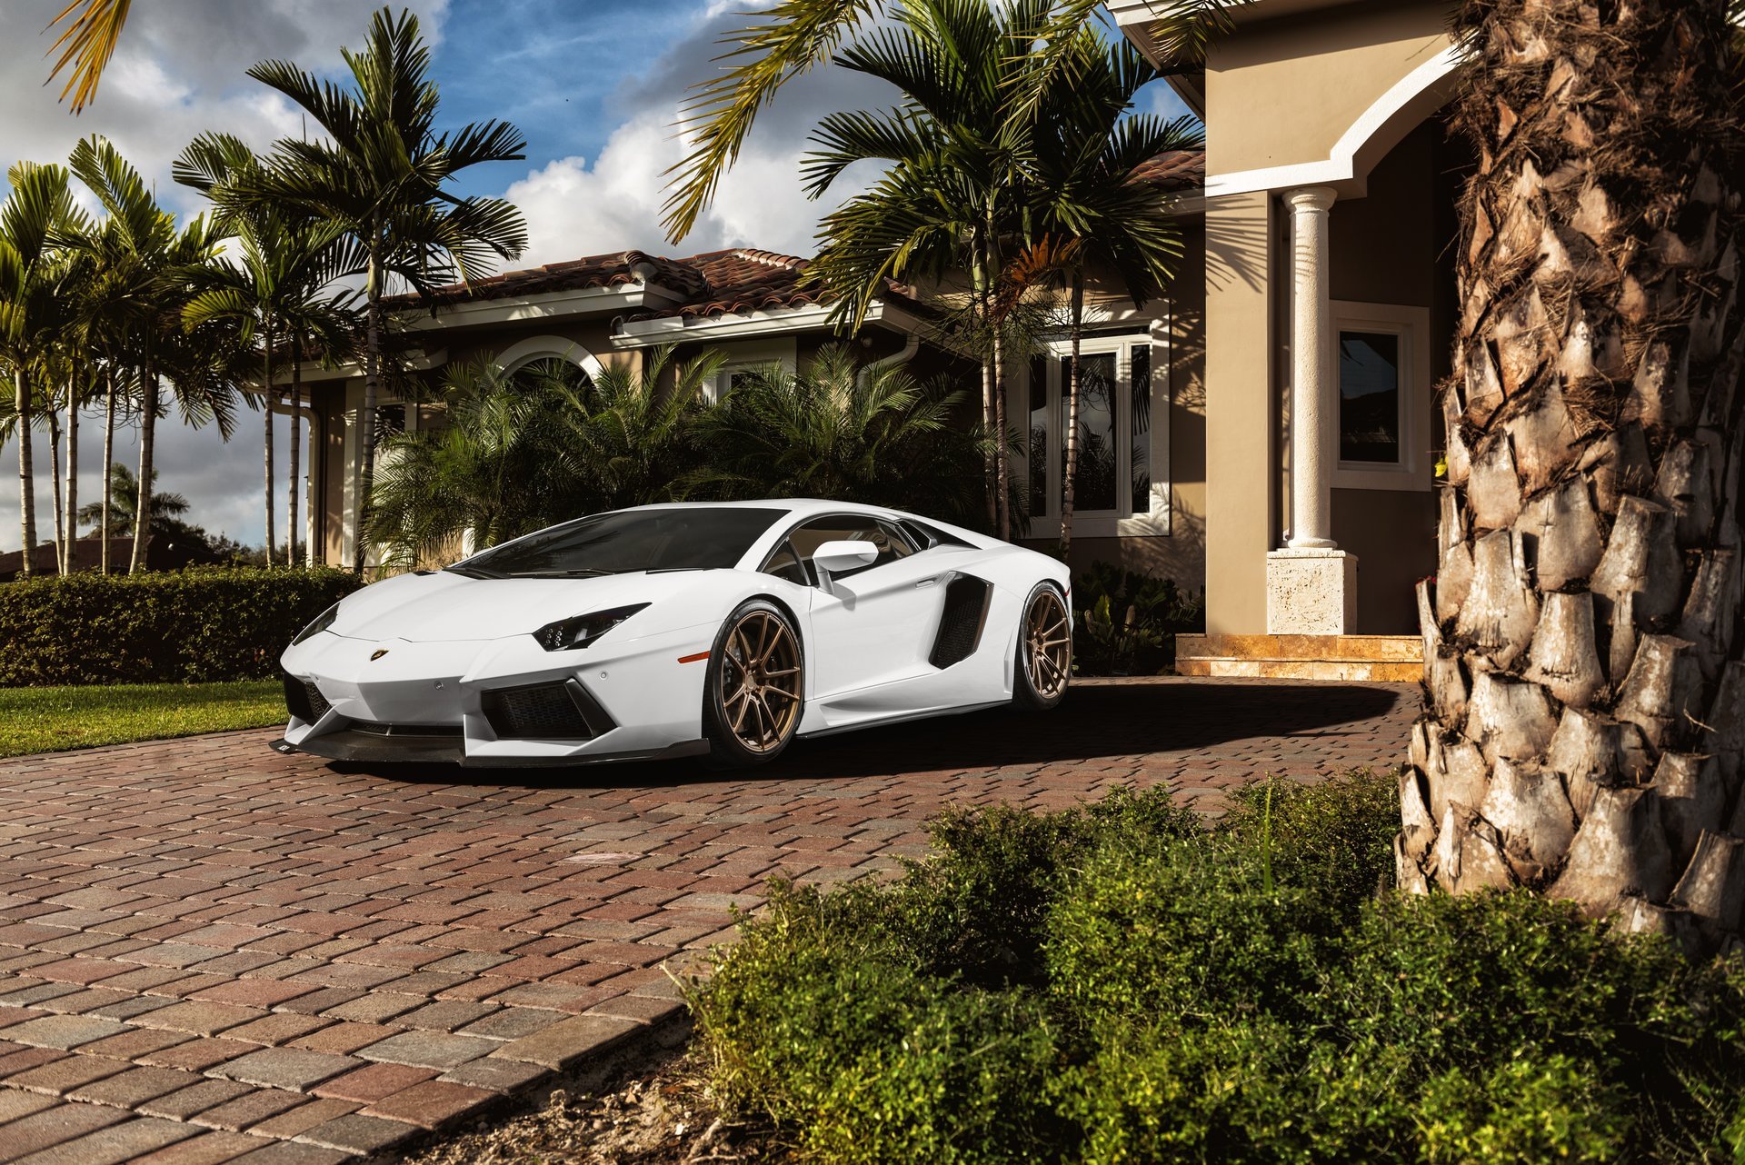
{"label": "dark front windshield of the white sports car", "polygon": [[738,565],[785,513],[742,506],[621,509],[565,521],[448,569],[489,579],[724,569]]}

